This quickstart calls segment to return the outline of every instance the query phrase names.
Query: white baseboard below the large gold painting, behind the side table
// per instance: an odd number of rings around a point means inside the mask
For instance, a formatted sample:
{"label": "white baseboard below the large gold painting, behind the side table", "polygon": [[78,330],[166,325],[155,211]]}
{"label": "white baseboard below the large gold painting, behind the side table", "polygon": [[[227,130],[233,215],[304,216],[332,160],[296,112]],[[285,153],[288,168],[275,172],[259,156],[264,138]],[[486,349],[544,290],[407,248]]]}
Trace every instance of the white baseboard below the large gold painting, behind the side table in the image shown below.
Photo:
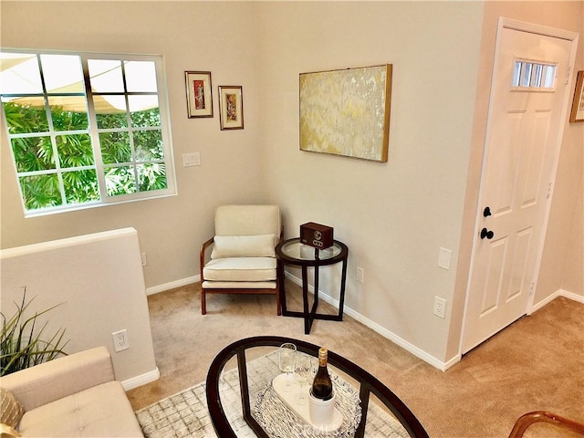
{"label": "white baseboard below the large gold painting, behind the side table", "polygon": [[[286,272],[285,275],[293,283],[297,284],[300,287],[302,286],[302,280],[300,278],[298,278],[297,276],[293,276],[292,274],[290,274],[288,272]],[[309,286],[308,290],[311,293],[314,293],[314,287]],[[339,308],[339,300],[328,296],[327,294],[323,293],[322,291],[318,292],[318,297],[322,298],[323,301],[328,302],[328,304],[330,304],[331,306],[333,306],[335,308]],[[387,328],[381,327],[379,324],[371,321],[369,318],[365,318],[364,316],[362,316],[360,313],[356,312],[352,308],[348,308],[347,306],[345,306],[343,311],[344,311],[344,313],[349,315],[349,317],[358,320],[361,324],[371,328],[373,331],[376,331],[384,338],[390,339],[391,342],[393,342],[394,344],[397,344],[402,349],[405,349],[405,350],[411,352],[415,357],[429,363],[430,365],[432,365],[434,368],[437,368],[438,370],[442,370],[442,371],[448,370],[450,367],[452,367],[454,365],[454,363],[461,360],[460,355],[453,358],[452,360],[449,360],[448,362],[443,362],[442,360],[437,360],[432,355],[428,354],[426,351],[419,349],[418,347],[411,344],[410,342],[408,342],[405,339],[401,339],[395,333],[392,333]]]}

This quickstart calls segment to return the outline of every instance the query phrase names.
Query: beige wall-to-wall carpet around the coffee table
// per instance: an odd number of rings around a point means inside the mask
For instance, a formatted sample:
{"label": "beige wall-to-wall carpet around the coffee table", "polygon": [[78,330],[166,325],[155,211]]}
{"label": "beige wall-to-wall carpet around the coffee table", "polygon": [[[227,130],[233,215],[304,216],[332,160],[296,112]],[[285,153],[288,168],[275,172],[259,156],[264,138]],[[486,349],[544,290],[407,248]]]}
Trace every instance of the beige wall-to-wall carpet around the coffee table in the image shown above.
{"label": "beige wall-to-wall carpet around the coffee table", "polygon": [[[299,288],[287,284],[287,291],[292,307]],[[537,410],[584,422],[584,305],[566,298],[518,320],[446,372],[349,317],[318,320],[304,335],[300,318],[276,316],[274,297],[214,295],[202,316],[195,284],[153,295],[149,306],[162,376],[129,391],[135,410],[204,381],[215,354],[236,339],[277,335],[326,345],[369,370],[431,437],[506,437],[517,417]],[[526,436],[574,435],[537,425]]]}

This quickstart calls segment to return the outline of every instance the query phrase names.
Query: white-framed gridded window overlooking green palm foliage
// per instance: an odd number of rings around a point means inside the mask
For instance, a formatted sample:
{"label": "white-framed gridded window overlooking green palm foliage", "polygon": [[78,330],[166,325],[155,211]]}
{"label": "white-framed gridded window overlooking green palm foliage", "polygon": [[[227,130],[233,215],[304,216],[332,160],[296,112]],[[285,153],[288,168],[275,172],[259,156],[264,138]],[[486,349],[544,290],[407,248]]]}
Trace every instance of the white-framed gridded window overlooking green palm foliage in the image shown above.
{"label": "white-framed gridded window overlooking green palm foliage", "polygon": [[26,215],[175,193],[162,57],[0,52]]}

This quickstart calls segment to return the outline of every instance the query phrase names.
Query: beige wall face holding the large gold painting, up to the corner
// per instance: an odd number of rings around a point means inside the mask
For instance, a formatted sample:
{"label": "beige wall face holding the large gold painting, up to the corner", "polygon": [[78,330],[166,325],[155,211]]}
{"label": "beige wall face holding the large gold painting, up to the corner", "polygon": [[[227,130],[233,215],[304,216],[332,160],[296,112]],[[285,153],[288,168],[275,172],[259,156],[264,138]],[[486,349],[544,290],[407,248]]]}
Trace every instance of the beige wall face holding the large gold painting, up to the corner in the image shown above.
{"label": "beige wall face holding the large gold painting, up to the corner", "polygon": [[[287,235],[308,221],[333,226],[349,245],[347,307],[442,361],[483,5],[307,2],[258,10],[267,185]],[[393,65],[389,161],[299,151],[298,74],[383,63]],[[453,251],[448,271],[438,267],[441,246]],[[356,266],[365,271],[362,285]],[[446,319],[433,316],[434,296],[447,300]]]}

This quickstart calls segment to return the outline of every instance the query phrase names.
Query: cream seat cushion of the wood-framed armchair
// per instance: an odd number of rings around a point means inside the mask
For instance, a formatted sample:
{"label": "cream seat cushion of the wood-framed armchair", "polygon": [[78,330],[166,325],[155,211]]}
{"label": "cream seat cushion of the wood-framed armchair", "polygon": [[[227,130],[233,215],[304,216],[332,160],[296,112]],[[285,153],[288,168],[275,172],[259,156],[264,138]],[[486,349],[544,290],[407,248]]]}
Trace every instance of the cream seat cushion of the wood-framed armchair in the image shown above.
{"label": "cream seat cushion of the wood-framed armchair", "polygon": [[274,257],[215,258],[203,267],[207,281],[271,281],[276,280]]}

